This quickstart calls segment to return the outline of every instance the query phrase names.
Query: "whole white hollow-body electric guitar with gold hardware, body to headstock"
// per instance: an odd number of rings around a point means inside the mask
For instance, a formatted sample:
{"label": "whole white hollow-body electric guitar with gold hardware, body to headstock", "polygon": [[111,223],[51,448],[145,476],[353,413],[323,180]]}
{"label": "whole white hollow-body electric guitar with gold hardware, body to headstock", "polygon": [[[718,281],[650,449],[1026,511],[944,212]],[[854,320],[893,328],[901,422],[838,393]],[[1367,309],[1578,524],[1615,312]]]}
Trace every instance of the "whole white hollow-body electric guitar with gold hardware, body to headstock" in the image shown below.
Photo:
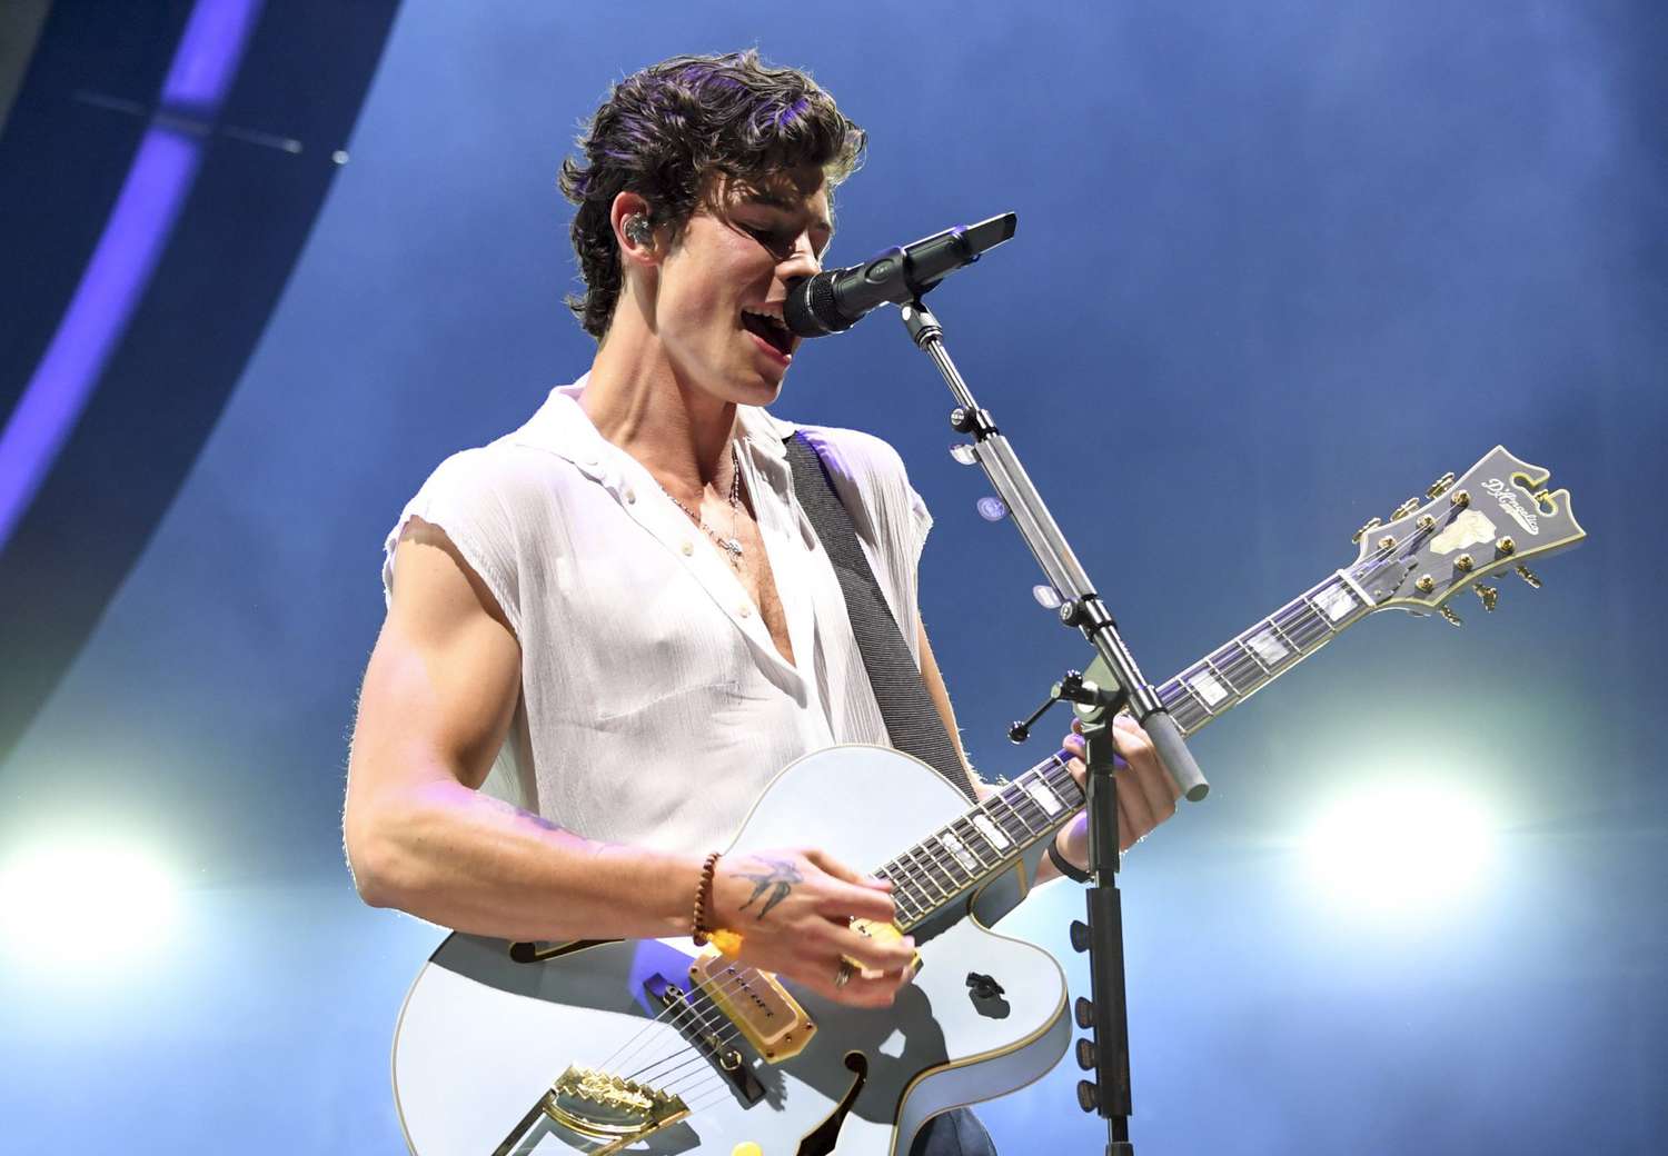
{"label": "whole white hollow-body electric guitar with gold hardware, body to headstock", "polygon": [[[1578,542],[1570,492],[1496,447],[1356,534],[1348,569],[1159,687],[1191,734],[1383,609],[1439,611],[1480,579]],[[886,806],[877,806],[884,799]],[[1059,964],[987,931],[1083,807],[1056,757],[982,804],[926,764],[847,746],[782,771],[729,854],[814,841],[892,881],[921,971],[856,1011],[689,939],[509,944],[454,934],[419,973],[394,1039],[417,1156],[657,1153],[902,1156],[937,1113],[1048,1073],[1071,1023]]]}

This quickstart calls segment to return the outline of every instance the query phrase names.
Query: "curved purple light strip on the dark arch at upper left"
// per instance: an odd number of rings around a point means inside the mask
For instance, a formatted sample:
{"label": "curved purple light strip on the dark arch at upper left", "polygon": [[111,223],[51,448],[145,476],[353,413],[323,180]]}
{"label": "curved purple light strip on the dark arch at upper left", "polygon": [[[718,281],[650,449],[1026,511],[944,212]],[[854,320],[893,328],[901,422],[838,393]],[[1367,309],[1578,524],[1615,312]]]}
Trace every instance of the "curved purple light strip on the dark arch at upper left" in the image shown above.
{"label": "curved purple light strip on the dark arch at upper left", "polygon": [[[197,0],[162,105],[212,118],[237,73],[262,0]],[[152,127],[45,355],[0,430],[0,550],[40,490],[127,332],[197,177],[202,143]]]}

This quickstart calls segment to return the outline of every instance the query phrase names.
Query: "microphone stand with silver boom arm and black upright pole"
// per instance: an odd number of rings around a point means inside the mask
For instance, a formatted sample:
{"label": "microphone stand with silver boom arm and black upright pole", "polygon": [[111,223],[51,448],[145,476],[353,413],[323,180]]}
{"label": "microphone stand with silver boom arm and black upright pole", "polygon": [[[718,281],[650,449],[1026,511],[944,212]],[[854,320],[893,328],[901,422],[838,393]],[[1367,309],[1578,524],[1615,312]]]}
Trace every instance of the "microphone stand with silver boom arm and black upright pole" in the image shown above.
{"label": "microphone stand with silver boom arm and black upright pole", "polygon": [[[1203,799],[1209,791],[1204,774],[1193,761],[1181,731],[1164,711],[1158,692],[1141,677],[1134,656],[1118,634],[1118,624],[1101,604],[1089,575],[1078,562],[1066,535],[1042,504],[1042,495],[1026,474],[1007,439],[996,429],[989,412],[979,409],[944,349],[944,330],[917,295],[901,307],[909,337],[939,367],[956,409],[951,425],[972,437],[974,460],[984,467],[997,497],[1007,504],[1019,535],[1031,547],[1042,574],[1064,602],[1059,619],[1076,627],[1094,646],[1116,687],[1074,686],[1073,696],[1083,734],[1088,741],[1088,812],[1089,812],[1089,922],[1073,927],[1073,942],[1089,951],[1093,1001],[1078,1001],[1078,1026],[1091,1028],[1094,1041],[1078,1041],[1078,1063],[1093,1068],[1096,1083],[1078,1084],[1078,1103],[1106,1119],[1106,1156],[1134,1156],[1129,1143],[1129,1116],[1134,1113],[1129,1089],[1129,1021],[1124,989],[1123,897],[1118,892],[1118,776],[1113,757],[1113,712],[1129,706],[1153,739],[1159,762],[1188,799]],[[1021,727],[1016,727],[1022,731]]]}

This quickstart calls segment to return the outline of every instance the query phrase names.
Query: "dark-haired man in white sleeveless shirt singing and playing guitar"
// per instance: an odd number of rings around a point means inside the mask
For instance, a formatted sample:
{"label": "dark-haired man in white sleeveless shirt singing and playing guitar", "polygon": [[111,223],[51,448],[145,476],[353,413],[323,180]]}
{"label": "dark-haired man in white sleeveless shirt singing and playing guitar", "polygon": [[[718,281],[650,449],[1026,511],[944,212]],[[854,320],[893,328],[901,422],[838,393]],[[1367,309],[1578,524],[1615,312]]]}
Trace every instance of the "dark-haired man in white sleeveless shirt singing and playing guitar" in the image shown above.
{"label": "dark-haired man in white sleeveless shirt singing and playing guitar", "polygon": [[[505,939],[732,929],[744,962],[854,1008],[909,981],[907,939],[849,926],[892,919],[887,884],[817,832],[711,859],[796,757],[887,744],[794,499],[796,430],[961,751],[916,601],[931,517],[902,462],[867,434],[766,412],[799,345],[786,287],[819,270],[831,192],[862,150],[811,77],[752,52],[644,68],[592,117],[562,167],[590,369],[442,462],[387,539],[344,819],[367,902]],[[1128,846],[1176,792],[1143,731],[1119,727]],[[1081,817],[1054,852],[1081,869]],[[956,1111],[914,1151],[991,1146]]]}

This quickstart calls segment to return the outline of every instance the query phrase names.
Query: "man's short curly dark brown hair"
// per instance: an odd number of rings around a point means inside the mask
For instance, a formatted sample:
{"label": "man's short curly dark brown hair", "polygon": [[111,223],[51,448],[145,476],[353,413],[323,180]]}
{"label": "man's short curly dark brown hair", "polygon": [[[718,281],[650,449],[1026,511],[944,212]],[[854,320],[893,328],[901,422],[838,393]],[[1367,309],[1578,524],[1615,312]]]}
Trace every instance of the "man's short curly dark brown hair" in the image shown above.
{"label": "man's short curly dark brown hair", "polygon": [[864,132],[797,68],[754,50],[672,57],[614,85],[562,162],[574,214],[574,252],[585,292],[567,299],[602,340],[620,295],[620,257],[609,212],[620,192],[651,205],[654,225],[681,229],[711,192],[711,177],[759,180],[821,165],[829,187],[862,163]]}

